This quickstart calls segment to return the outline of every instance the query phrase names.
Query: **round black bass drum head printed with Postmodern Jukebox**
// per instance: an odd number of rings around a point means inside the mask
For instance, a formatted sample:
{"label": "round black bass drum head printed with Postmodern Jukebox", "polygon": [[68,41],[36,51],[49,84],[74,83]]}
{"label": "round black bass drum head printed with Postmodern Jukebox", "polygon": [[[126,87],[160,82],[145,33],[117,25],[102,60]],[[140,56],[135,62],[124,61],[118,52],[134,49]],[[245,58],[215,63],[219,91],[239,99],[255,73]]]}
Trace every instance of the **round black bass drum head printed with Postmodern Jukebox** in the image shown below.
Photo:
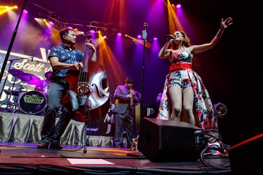
{"label": "round black bass drum head printed with Postmodern Jukebox", "polygon": [[19,97],[19,107],[26,114],[38,114],[45,105],[46,97],[38,91],[29,91]]}

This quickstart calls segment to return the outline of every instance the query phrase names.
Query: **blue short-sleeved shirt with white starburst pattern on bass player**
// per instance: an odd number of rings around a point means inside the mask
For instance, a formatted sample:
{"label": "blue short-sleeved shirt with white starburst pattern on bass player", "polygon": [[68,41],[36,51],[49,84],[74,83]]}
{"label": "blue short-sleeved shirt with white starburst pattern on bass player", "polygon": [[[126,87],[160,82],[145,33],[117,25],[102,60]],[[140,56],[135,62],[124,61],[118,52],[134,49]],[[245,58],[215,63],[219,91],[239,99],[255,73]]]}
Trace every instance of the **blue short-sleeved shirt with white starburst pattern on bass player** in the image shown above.
{"label": "blue short-sleeved shirt with white starburst pattern on bass player", "polygon": [[[75,47],[70,51],[66,44],[61,46],[52,47],[49,52],[48,59],[51,57],[58,57],[59,62],[66,64],[74,64],[76,62],[81,62],[83,60],[83,52],[77,50]],[[53,69],[51,79],[65,79],[66,73],[69,69]]]}

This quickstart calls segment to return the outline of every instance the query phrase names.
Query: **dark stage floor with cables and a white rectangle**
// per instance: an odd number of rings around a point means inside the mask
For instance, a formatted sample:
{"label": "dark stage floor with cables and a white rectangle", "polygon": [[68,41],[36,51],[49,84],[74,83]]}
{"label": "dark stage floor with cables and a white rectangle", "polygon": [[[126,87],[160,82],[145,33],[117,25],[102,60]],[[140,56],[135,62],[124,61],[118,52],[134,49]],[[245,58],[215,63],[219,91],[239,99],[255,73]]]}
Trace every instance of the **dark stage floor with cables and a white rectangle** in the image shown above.
{"label": "dark stage floor with cables and a white rectangle", "polygon": [[0,142],[0,174],[232,174],[227,154],[204,157],[211,165],[207,167],[200,159],[151,162],[128,148],[62,145],[62,150],[55,150],[37,145]]}

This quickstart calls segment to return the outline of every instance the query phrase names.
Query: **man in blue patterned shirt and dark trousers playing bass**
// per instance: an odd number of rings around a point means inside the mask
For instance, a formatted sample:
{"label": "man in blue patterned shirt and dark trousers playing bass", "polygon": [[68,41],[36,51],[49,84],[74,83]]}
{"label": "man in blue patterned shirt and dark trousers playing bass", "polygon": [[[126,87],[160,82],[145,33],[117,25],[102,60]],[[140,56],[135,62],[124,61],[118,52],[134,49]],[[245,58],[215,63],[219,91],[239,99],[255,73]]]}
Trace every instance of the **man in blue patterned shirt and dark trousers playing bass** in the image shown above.
{"label": "man in blue patterned shirt and dark trousers playing bass", "polygon": [[[62,107],[61,117],[56,124],[56,113],[61,104],[60,98],[69,89],[69,83],[65,81],[65,76],[70,69],[80,70],[83,67],[84,53],[74,47],[77,38],[74,31],[64,28],[60,30],[59,36],[63,44],[52,47],[48,56],[53,71],[47,89],[47,107],[41,130],[41,143],[37,145],[37,148],[63,149],[60,145],[60,138],[71,118],[70,113],[67,113],[65,107]],[[92,50],[92,61],[97,61],[96,49],[93,44],[86,43],[85,45]]]}

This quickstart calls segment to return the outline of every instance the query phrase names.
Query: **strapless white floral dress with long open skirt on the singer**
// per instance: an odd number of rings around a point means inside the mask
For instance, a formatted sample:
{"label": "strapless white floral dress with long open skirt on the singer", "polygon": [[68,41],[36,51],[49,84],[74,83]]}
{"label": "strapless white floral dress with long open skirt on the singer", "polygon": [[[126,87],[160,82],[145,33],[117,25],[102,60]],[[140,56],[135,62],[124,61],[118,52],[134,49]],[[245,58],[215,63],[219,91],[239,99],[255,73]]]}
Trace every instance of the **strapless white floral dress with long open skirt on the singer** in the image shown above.
{"label": "strapless white floral dress with long open skirt on the singer", "polygon": [[[171,55],[171,65],[190,64],[192,65],[192,54],[188,51]],[[184,89],[188,86],[193,87],[197,126],[203,130],[218,130],[217,118],[214,113],[213,105],[206,87],[200,76],[191,68],[178,68],[169,72],[164,83],[164,91],[159,106],[157,119],[169,120],[169,93],[167,89],[176,86]]]}

